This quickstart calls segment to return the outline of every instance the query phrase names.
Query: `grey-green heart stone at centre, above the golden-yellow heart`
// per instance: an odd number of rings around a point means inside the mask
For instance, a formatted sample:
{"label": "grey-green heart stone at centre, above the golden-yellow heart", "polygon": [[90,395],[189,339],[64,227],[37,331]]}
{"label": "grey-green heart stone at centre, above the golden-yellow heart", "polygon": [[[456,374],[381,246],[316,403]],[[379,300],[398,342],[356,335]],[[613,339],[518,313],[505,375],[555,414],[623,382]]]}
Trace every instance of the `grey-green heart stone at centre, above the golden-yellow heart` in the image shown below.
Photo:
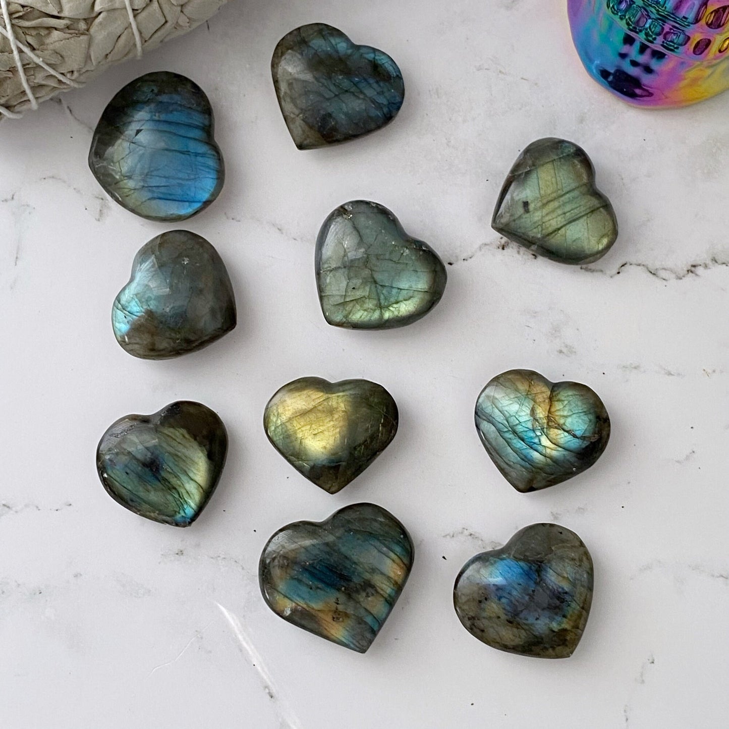
{"label": "grey-green heart stone at centre, above the golden-yellow heart", "polygon": [[443,297],[443,261],[385,207],[354,200],[330,214],[316,241],[324,319],[347,329],[404,327]]}

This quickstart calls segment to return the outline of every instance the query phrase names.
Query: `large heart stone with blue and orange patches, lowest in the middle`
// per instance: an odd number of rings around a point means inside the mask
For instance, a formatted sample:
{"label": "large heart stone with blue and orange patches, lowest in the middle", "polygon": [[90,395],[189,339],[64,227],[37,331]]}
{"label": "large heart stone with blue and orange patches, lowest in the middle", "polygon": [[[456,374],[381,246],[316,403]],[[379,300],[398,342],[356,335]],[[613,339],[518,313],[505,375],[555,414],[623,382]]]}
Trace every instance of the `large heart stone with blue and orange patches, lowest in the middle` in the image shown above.
{"label": "large heart stone with blue and orange patches, lowest in the middle", "polygon": [[364,653],[405,587],[413,542],[393,515],[354,504],[327,521],[279,529],[259,564],[268,607],[306,631]]}

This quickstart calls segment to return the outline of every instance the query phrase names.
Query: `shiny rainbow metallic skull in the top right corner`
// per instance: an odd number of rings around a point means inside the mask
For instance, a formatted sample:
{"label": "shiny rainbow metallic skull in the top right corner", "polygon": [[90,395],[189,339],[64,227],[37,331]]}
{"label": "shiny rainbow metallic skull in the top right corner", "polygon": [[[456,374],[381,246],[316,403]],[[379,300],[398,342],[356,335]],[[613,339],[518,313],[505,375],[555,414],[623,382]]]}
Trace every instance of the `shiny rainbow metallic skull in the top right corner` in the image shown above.
{"label": "shiny rainbow metallic skull in the top right corner", "polygon": [[729,89],[729,0],[568,0],[590,75],[638,106],[686,106]]}

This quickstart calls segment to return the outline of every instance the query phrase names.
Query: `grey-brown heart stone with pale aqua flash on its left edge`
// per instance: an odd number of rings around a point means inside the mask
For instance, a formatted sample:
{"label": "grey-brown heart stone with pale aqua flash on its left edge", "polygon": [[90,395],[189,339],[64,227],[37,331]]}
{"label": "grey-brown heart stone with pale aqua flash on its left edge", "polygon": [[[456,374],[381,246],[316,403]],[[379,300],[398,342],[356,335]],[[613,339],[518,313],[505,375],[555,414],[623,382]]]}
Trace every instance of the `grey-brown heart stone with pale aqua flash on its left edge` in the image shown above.
{"label": "grey-brown heart stone with pale aqua flash on its left edge", "polygon": [[171,230],[134,257],[112,308],[117,342],[141,359],[169,359],[208,346],[235,328],[225,263],[205,238]]}

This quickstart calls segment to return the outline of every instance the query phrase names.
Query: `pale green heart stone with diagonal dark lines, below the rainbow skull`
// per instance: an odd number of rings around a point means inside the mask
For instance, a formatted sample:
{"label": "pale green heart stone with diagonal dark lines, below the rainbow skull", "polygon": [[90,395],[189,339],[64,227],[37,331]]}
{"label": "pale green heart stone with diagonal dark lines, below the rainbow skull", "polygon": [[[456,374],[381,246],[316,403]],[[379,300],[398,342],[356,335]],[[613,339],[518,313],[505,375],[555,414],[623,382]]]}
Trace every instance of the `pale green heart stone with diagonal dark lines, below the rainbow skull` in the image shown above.
{"label": "pale green heart stone with diagonal dark lines, below the rainbow skull", "polygon": [[582,265],[603,257],[617,239],[610,201],[595,187],[595,168],[577,144],[530,144],[504,182],[491,222],[531,252]]}

